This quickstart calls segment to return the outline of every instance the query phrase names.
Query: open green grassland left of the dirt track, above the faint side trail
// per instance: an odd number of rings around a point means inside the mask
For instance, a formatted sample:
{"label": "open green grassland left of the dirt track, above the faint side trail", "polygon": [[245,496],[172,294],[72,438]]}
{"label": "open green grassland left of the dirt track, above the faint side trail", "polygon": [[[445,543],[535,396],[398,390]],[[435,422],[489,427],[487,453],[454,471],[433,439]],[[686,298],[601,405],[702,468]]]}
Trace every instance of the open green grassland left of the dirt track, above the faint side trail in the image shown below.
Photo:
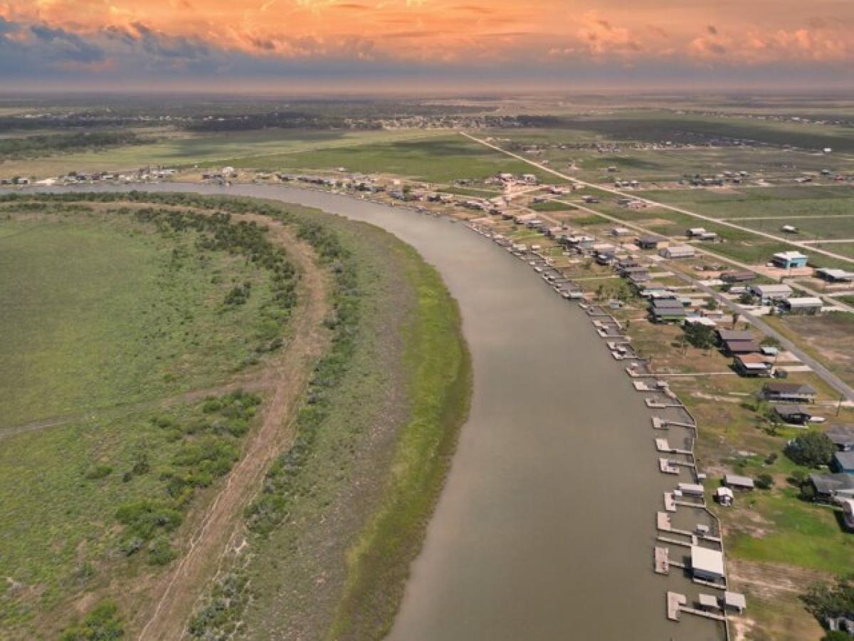
{"label": "open green grassland left of the dirt track, above the faint side trail", "polygon": [[[249,356],[263,272],[130,221],[0,220],[2,425],[209,385]],[[235,283],[256,289],[224,309]]]}

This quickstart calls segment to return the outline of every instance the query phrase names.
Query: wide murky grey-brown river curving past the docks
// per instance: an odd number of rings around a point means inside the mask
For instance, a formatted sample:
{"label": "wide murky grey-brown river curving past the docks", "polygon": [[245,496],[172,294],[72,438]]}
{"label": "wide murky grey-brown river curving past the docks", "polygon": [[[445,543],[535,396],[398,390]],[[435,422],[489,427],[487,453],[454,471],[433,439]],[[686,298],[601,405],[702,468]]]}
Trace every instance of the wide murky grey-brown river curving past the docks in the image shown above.
{"label": "wide murky grey-brown river curving past the docks", "polygon": [[[139,185],[133,185],[139,190]],[[658,472],[650,410],[581,309],[463,224],[278,185],[145,185],[276,198],[381,226],[442,273],[471,349],[471,415],[412,566],[393,641],[719,641],[665,618],[652,572]],[[111,186],[108,191],[117,191]]]}

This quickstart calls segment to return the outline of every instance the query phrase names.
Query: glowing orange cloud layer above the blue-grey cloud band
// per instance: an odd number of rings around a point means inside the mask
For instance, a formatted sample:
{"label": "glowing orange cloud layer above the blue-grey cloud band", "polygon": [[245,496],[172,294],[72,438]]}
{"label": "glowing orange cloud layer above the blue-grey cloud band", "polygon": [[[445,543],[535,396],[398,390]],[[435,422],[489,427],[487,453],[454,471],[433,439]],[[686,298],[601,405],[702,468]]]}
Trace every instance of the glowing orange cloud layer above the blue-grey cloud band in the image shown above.
{"label": "glowing orange cloud layer above the blue-grey cloud band", "polygon": [[260,57],[854,59],[854,2],[836,0],[718,0],[714,10],[682,0],[5,0],[0,16],[81,37],[139,38],[143,25],[159,41]]}

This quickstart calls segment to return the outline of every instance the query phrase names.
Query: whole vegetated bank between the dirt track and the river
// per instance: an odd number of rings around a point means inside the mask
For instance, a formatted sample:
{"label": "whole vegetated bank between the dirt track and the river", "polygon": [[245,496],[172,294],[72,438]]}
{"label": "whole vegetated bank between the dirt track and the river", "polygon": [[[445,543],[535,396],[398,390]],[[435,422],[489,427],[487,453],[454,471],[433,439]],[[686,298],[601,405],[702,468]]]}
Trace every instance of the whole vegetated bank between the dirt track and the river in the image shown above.
{"label": "whole vegetated bank between the dirt track and the river", "polygon": [[337,266],[336,338],[249,509],[252,552],[196,613],[198,638],[237,625],[250,638],[381,636],[468,409],[459,313],[436,271],[376,227],[295,222]]}

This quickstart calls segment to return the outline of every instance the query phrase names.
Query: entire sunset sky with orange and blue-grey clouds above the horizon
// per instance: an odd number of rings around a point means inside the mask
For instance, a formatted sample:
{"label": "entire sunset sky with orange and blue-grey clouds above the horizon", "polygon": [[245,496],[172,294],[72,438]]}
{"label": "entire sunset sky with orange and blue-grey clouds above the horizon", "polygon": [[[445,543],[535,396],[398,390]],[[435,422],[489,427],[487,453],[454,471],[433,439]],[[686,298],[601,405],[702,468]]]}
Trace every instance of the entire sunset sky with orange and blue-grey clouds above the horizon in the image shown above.
{"label": "entire sunset sky with orange and blue-grey clouds above the horizon", "polygon": [[854,91],[854,0],[0,0],[0,91]]}

